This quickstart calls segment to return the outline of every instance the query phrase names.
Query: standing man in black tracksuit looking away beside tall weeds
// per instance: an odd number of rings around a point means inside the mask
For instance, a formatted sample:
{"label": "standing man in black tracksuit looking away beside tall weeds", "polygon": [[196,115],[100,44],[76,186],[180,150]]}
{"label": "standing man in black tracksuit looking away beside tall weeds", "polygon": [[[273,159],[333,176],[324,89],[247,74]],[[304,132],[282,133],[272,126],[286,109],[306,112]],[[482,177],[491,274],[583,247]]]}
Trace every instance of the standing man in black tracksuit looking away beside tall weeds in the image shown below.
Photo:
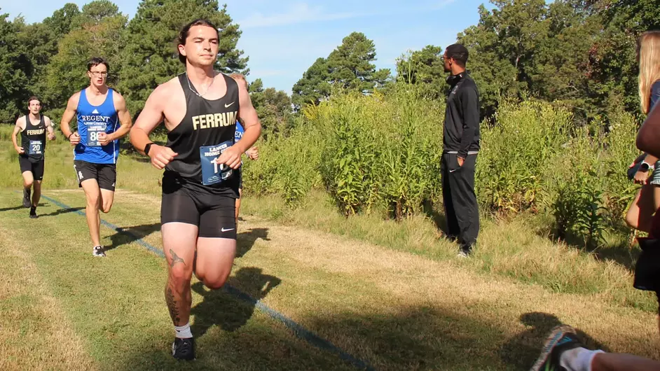
{"label": "standing man in black tracksuit looking away beside tall weeds", "polygon": [[474,167],[479,153],[479,92],[465,71],[468,52],[449,45],[443,55],[450,85],[447,95],[442,153],[442,197],[448,237],[458,239],[459,256],[472,252],[479,235],[479,205],[474,194]]}

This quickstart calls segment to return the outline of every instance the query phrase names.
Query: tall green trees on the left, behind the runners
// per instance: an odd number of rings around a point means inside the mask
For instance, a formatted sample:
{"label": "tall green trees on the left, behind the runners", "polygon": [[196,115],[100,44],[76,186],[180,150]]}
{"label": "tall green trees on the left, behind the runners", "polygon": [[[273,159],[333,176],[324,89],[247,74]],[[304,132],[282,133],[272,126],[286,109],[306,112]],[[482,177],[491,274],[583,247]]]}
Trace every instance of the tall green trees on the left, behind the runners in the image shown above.
{"label": "tall green trees on the left, behind the runners", "polygon": [[[30,25],[22,17],[9,20],[0,14],[0,123],[13,123],[34,94],[46,114],[59,118],[71,94],[88,85],[84,68],[92,56],[108,60],[109,85],[124,95],[136,116],[158,84],[184,71],[175,40],[181,26],[195,18],[219,27],[216,69],[249,73],[248,57],[236,48],[241,31],[216,0],[142,0],[130,21],[109,0],[82,8],[67,3]],[[250,90],[264,126],[289,120],[286,93],[264,88],[259,79]]]}

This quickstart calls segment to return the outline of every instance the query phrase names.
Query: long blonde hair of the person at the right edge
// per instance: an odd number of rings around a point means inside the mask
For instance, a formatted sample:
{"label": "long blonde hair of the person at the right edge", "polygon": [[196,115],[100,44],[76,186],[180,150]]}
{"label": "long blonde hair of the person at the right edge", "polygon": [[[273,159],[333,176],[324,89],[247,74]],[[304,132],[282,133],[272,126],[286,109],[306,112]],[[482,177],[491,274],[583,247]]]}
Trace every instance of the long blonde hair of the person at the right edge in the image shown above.
{"label": "long blonde hair of the person at the right edge", "polygon": [[651,85],[660,80],[660,31],[640,36],[640,102],[647,114],[651,106]]}

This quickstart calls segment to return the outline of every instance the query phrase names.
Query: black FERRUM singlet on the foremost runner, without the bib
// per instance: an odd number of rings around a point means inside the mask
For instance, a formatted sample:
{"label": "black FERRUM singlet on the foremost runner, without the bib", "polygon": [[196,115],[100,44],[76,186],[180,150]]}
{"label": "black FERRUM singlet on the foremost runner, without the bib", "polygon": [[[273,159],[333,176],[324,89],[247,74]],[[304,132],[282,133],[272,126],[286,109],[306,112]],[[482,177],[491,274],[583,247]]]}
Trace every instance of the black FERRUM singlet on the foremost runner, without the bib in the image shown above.
{"label": "black FERRUM singlet on the foremost runner, without the bib", "polygon": [[[234,140],[236,119],[238,118],[238,84],[221,73],[227,85],[224,97],[207,100],[191,91],[186,73],[179,75],[179,83],[186,96],[186,116],[174,130],[167,133],[167,147],[178,153],[177,157],[165,167],[165,172],[177,173],[175,176],[201,184],[202,167],[200,165],[200,147],[215,146],[225,141]],[[210,188],[222,188],[221,183]]]}

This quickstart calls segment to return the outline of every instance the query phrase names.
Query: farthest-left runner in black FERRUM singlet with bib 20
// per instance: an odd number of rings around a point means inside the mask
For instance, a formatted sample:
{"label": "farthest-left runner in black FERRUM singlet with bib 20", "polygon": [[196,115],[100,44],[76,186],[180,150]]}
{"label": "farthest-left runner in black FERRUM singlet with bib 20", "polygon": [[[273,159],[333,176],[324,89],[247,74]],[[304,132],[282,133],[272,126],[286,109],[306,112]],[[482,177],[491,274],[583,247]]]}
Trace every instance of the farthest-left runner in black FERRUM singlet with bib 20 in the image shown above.
{"label": "farthest-left runner in black FERRUM singlet with bib 20", "polygon": [[[41,102],[39,98],[30,97],[27,100],[29,113],[16,120],[11,141],[18,152],[18,164],[23,176],[23,207],[30,208],[30,218],[37,218],[36,207],[41,197],[41,180],[43,179],[43,153],[46,151],[46,132],[48,139],[55,139],[55,130],[50,118],[39,113]],[[20,146],[16,135],[20,132]],[[34,188],[32,202],[30,190]]]}

